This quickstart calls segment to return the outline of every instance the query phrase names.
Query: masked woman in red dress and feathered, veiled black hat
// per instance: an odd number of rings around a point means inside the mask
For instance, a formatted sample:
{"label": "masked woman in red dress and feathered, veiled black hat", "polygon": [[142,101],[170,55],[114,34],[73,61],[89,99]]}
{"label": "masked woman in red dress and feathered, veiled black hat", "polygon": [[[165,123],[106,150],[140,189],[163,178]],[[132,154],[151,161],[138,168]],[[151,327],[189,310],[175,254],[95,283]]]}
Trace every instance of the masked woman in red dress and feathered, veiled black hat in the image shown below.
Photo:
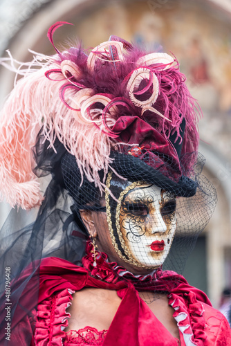
{"label": "masked woman in red dress and feathered, veiled black hat", "polygon": [[216,204],[178,62],[115,36],[89,55],[54,48],[17,71],[1,114],[1,194],[40,205],[1,231],[2,345],[231,345],[175,272]]}

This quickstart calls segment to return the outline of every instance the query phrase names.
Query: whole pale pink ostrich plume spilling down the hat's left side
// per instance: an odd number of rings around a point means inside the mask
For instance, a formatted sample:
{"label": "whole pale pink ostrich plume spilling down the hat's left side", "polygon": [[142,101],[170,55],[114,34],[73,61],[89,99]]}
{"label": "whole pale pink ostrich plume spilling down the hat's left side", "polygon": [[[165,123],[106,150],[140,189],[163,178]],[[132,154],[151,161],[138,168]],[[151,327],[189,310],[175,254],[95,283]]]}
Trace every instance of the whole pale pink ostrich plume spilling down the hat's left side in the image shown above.
{"label": "whole pale pink ostrich plume spilling down the hat's left side", "polygon": [[[21,73],[24,78],[15,84],[0,115],[1,199],[24,209],[33,208],[42,200],[30,154],[41,127],[50,146],[53,147],[57,137],[75,156],[82,177],[85,175],[94,181],[101,190],[98,172],[108,170],[111,163],[109,137],[93,122],[78,122],[73,110],[59,98],[63,80],[54,83],[45,77],[48,66],[57,68],[53,59],[50,64],[41,64],[38,71],[34,71],[32,65]],[[66,98],[71,102],[75,93],[76,90],[70,89]]]}

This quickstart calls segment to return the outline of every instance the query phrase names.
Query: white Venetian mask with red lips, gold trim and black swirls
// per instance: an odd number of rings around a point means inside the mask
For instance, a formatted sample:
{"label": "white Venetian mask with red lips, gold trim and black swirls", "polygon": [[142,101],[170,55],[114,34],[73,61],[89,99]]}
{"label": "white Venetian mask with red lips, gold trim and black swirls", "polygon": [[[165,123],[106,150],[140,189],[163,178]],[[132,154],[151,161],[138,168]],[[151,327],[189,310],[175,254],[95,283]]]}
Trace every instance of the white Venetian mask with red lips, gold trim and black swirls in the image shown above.
{"label": "white Venetian mask with red lips, gold trim and black swirls", "polygon": [[[109,204],[107,208],[110,224]],[[174,239],[175,210],[176,199],[172,194],[156,185],[131,183],[124,188],[118,199],[116,230],[109,227],[115,251],[125,262],[136,266],[161,266]]]}

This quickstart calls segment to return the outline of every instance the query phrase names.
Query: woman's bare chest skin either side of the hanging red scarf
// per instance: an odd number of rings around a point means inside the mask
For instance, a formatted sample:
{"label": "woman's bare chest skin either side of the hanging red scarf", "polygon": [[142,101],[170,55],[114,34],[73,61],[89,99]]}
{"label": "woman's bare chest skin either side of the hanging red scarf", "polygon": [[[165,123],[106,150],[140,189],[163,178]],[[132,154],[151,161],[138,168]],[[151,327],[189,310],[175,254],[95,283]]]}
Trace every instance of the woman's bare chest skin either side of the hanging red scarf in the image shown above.
{"label": "woman's bare chest skin either side of the hanging red scarf", "polygon": [[[176,320],[174,320],[174,309],[169,306],[166,294],[154,294],[150,292],[140,293],[140,298],[147,302],[148,309],[156,316],[158,321],[169,331],[174,338],[179,338]],[[73,295],[71,314],[68,322],[68,330],[79,330],[84,327],[93,327],[98,331],[109,329],[111,322],[120,307],[121,299],[116,291],[107,289],[83,289]],[[131,307],[126,311],[129,320]]]}

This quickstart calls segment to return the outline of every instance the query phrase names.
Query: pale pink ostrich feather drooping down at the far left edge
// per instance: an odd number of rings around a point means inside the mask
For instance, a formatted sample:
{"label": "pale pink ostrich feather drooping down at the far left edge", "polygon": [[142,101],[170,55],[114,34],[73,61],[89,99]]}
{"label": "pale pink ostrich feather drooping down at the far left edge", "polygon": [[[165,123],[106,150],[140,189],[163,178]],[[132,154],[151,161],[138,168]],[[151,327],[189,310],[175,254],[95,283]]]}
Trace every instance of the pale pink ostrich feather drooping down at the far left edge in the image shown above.
{"label": "pale pink ostrich feather drooping down at the far left edge", "polygon": [[43,81],[41,71],[19,80],[0,115],[1,199],[5,197],[11,206],[24,209],[38,205],[42,199],[32,172],[30,148],[41,127],[41,119],[35,118],[33,108],[37,87]]}

